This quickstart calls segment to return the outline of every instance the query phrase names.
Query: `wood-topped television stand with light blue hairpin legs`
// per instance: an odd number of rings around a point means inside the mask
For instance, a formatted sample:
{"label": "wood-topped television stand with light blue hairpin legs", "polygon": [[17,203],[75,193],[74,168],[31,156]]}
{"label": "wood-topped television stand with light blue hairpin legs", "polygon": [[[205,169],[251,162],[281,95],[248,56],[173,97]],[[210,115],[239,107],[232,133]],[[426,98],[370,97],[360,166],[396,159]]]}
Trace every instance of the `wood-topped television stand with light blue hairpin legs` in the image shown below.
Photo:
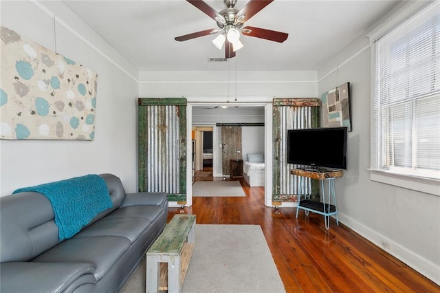
{"label": "wood-topped television stand with light blue hairpin legs", "polygon": [[[335,194],[335,178],[342,177],[344,174],[342,170],[324,170],[324,169],[292,169],[290,171],[292,175],[297,175],[300,177],[300,186],[298,194],[298,206],[296,207],[296,218],[298,218],[299,210],[305,210],[305,215],[309,215],[309,212],[318,213],[324,216],[325,228],[329,230],[330,228],[330,216],[335,215],[336,224],[339,225],[338,220],[338,206],[336,205],[336,194]],[[316,202],[310,199],[310,195],[305,193],[305,178],[309,177],[311,179],[320,180],[322,202]],[[326,204],[326,194],[324,188],[324,182],[328,182],[327,191],[327,204]],[[301,200],[301,195],[304,194],[303,200]],[[330,204],[330,197],[333,204]]]}

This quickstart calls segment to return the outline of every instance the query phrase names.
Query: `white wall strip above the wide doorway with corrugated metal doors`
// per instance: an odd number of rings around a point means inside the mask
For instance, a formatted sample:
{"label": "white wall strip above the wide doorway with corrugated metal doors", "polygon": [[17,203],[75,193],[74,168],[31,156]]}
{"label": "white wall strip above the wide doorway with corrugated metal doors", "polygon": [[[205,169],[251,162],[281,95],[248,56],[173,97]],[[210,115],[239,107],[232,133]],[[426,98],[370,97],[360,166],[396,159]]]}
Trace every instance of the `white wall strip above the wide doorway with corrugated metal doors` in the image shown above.
{"label": "white wall strip above the wide doorway with corrugated metal doors", "polygon": [[[234,61],[231,61],[234,62]],[[227,66],[227,65],[225,65]],[[226,69],[228,67],[225,67]],[[250,102],[269,98],[316,98],[315,71],[140,72],[143,98],[188,98],[189,102]]]}

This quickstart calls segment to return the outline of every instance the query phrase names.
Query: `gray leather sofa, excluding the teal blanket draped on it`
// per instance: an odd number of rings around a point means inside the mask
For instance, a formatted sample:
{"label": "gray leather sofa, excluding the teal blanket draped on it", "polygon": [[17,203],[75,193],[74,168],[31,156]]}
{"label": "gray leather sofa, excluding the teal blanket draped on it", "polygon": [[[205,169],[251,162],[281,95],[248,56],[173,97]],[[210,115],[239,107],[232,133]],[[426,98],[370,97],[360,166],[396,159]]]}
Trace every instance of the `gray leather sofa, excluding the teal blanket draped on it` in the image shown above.
{"label": "gray leather sofa, excluding the teal blanket draped on it", "polygon": [[[111,174],[113,207],[60,240],[51,201],[0,197],[0,292],[118,292],[166,224],[166,193],[126,194]],[[80,207],[78,207],[80,208]]]}

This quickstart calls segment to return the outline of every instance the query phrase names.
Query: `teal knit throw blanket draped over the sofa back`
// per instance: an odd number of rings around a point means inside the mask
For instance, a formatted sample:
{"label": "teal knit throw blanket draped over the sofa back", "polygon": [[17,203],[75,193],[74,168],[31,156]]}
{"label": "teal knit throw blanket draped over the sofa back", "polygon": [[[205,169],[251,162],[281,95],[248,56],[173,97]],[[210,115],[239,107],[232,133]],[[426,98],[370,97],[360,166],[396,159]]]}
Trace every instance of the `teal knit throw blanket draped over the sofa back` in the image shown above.
{"label": "teal knit throw blanket draped over the sofa back", "polygon": [[50,200],[60,240],[74,236],[98,213],[113,206],[107,184],[98,175],[19,188],[14,193],[25,191],[42,193]]}

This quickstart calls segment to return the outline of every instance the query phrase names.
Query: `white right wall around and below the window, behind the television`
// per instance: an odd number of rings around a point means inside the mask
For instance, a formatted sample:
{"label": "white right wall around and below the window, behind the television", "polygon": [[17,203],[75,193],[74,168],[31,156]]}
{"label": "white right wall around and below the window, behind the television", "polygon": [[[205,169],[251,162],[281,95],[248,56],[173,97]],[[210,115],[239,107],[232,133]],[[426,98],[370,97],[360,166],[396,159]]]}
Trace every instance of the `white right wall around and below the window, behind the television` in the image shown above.
{"label": "white right wall around and below the window, behind the television", "polygon": [[318,71],[320,93],[351,83],[348,170],[336,180],[340,221],[440,283],[440,197],[370,180],[371,49],[361,36]]}

